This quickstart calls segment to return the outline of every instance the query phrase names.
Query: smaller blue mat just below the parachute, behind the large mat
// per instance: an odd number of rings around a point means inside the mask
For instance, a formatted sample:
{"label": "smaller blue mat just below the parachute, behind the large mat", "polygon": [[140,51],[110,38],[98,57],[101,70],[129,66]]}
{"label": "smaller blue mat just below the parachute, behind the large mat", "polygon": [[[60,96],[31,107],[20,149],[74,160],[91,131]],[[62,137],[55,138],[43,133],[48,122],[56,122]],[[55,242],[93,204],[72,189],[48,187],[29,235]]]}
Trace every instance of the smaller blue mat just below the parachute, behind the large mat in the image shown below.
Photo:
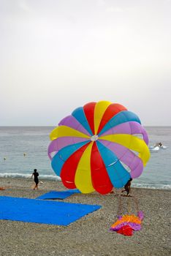
{"label": "smaller blue mat just below the parachute, behind the large mat", "polygon": [[66,197],[70,197],[70,195],[73,195],[75,193],[80,193],[80,190],[69,189],[66,191],[50,191],[44,195],[40,195],[36,199],[65,199]]}

